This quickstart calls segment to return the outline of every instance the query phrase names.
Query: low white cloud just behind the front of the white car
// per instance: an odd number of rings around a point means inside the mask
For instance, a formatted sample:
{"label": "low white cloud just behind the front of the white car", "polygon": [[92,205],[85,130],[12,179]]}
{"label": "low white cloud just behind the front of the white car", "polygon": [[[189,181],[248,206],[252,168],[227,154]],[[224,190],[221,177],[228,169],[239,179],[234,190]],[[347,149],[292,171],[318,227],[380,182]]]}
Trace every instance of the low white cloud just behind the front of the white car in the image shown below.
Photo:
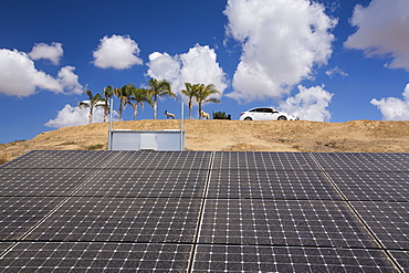
{"label": "low white cloud just behind the front of the white car", "polygon": [[331,119],[331,113],[327,111],[327,107],[334,94],[325,91],[324,86],[306,88],[298,85],[297,88],[300,93],[281,102],[280,108],[298,116],[300,119],[328,122]]}

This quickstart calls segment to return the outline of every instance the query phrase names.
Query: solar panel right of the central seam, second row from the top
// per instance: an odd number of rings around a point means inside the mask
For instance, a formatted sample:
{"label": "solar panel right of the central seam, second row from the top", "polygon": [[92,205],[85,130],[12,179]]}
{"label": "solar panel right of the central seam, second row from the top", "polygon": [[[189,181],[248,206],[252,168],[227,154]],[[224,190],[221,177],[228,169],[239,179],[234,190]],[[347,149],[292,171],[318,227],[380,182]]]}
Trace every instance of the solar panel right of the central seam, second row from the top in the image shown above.
{"label": "solar panel right of the central seam, second row from the top", "polygon": [[340,199],[321,171],[213,170],[209,198]]}

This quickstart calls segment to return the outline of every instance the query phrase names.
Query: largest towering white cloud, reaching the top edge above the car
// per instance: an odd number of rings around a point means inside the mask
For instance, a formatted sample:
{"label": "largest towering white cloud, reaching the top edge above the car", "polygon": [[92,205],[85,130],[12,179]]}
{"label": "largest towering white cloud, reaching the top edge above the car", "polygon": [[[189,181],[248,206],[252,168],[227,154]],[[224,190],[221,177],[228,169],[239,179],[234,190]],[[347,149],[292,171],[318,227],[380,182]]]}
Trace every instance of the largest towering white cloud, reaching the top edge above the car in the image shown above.
{"label": "largest towering white cloud, reaching the top edge above the car", "polygon": [[229,0],[227,33],[242,43],[228,96],[251,102],[280,98],[332,55],[337,20],[310,0]]}

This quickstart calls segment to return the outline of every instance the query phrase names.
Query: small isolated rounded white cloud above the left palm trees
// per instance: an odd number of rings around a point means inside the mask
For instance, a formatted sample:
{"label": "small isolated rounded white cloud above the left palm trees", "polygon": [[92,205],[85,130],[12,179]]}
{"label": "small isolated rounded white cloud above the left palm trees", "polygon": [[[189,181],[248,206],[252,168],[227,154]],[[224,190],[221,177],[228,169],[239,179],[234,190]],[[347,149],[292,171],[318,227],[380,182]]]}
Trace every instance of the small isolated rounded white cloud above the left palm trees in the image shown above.
{"label": "small isolated rounded white cloud above the left palm trees", "polygon": [[98,48],[93,52],[95,66],[125,70],[135,64],[143,64],[138,57],[140,52],[138,44],[128,35],[104,36],[99,42]]}

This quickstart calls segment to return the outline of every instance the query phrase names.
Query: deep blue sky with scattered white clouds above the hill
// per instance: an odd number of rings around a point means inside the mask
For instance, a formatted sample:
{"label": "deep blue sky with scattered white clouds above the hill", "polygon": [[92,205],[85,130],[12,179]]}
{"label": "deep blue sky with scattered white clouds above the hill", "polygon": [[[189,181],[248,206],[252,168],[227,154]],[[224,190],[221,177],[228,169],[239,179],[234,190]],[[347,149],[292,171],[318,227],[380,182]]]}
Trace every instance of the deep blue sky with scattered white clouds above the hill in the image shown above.
{"label": "deep blue sky with scattered white clouds above the hill", "polygon": [[[0,143],[86,124],[75,107],[86,90],[150,77],[179,97],[185,82],[216,84],[221,103],[203,109],[233,119],[255,106],[409,119],[407,0],[2,0],[0,10]],[[180,118],[180,99],[159,101],[158,118],[165,111]],[[153,116],[146,105],[137,119]]]}

